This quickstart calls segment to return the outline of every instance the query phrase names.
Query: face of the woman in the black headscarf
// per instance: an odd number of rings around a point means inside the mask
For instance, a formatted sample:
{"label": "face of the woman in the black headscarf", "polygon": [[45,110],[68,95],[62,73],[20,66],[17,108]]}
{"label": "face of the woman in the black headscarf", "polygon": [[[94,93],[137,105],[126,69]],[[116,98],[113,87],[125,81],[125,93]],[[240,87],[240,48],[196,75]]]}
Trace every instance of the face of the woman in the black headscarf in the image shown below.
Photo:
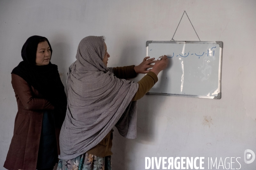
{"label": "face of the woman in the black headscarf", "polygon": [[48,65],[50,59],[51,51],[48,42],[39,42],[36,51],[35,65]]}

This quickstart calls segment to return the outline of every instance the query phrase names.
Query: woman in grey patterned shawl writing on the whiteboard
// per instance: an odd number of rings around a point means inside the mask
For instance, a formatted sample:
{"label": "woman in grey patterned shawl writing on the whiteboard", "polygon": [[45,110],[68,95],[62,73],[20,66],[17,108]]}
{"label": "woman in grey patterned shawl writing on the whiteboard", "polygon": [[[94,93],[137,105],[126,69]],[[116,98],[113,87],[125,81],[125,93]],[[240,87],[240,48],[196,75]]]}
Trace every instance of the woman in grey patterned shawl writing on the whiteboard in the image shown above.
{"label": "woman in grey patterned shawl writing on the whiteboard", "polygon": [[[112,128],[125,138],[137,137],[137,100],[168,64],[166,56],[157,61],[145,57],[138,66],[109,68],[109,57],[104,37],[89,36],[79,43],[67,74],[58,170],[111,170]],[[138,83],[126,80],[139,73],[147,75]]]}

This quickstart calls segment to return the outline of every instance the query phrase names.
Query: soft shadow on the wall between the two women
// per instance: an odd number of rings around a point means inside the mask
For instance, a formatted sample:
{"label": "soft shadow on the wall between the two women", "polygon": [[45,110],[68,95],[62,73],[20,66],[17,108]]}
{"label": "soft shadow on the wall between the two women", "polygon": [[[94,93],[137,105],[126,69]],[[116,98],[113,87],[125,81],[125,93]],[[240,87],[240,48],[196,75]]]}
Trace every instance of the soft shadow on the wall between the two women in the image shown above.
{"label": "soft shadow on the wall between the two women", "polygon": [[64,34],[55,34],[50,39],[52,46],[51,62],[52,64],[58,65],[58,72],[64,87],[66,87],[67,69],[70,65],[68,59],[71,57],[71,45],[69,42],[71,41]]}

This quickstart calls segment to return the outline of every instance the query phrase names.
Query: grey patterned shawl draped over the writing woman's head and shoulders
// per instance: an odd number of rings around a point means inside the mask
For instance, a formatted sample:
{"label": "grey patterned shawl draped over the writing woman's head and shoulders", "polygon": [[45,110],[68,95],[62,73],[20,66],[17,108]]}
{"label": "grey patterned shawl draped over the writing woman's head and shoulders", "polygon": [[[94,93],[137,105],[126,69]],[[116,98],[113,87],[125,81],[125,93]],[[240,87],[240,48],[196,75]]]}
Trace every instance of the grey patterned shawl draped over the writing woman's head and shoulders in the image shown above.
{"label": "grey patterned shawl draped over the writing woman's head and shoulders", "polygon": [[67,113],[61,127],[59,159],[70,160],[96,146],[116,126],[128,138],[137,137],[138,83],[118,79],[107,68],[102,37],[85,37],[67,74]]}

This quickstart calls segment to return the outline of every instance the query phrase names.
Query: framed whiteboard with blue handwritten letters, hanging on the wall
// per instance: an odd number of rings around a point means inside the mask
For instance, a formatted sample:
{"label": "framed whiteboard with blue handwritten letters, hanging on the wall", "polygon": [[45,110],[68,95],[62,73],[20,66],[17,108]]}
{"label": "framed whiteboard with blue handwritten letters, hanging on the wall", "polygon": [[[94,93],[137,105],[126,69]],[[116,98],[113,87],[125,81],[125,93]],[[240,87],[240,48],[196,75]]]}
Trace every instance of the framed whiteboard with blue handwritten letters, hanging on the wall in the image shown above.
{"label": "framed whiteboard with blue handwritten letters, hanging on the wall", "polygon": [[146,56],[169,58],[148,94],[220,99],[222,48],[221,41],[147,41]]}

